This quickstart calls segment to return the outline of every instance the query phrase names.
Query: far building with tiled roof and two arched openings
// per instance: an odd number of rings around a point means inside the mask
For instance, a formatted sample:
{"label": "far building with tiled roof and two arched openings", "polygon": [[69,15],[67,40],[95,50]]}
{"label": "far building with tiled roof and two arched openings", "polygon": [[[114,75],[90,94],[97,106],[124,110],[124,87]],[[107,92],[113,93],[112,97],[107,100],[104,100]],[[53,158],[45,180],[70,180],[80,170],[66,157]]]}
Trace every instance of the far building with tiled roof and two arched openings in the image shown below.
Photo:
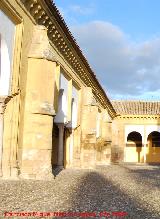
{"label": "far building with tiled roof and two arched openings", "polygon": [[160,102],[112,101],[114,160],[160,163]]}

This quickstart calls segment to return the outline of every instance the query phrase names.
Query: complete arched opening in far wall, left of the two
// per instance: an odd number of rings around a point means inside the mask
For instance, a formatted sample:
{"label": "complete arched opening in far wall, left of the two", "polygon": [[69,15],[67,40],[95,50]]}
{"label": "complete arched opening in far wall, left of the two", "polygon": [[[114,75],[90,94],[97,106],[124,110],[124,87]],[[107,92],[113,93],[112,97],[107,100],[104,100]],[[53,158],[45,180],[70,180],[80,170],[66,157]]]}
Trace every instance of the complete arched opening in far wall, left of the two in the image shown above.
{"label": "complete arched opening in far wall, left of the two", "polygon": [[133,131],[127,136],[126,158],[128,162],[141,162],[142,160],[142,136]]}

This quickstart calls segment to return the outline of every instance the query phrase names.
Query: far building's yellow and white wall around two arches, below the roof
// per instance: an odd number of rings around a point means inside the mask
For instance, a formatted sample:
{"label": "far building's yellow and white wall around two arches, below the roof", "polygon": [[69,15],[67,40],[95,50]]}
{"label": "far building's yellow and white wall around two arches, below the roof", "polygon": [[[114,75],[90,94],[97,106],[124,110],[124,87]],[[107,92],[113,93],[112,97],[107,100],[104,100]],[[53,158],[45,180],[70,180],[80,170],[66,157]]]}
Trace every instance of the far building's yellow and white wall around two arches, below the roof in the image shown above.
{"label": "far building's yellow and white wall around two arches, below the roof", "polygon": [[[159,127],[160,121],[157,115],[122,115],[116,117],[112,126],[112,162],[160,162],[158,158],[160,149],[147,146],[148,134],[152,131],[159,131]],[[138,132],[142,136],[141,149],[136,148],[136,146],[127,146],[127,136],[130,132]]]}

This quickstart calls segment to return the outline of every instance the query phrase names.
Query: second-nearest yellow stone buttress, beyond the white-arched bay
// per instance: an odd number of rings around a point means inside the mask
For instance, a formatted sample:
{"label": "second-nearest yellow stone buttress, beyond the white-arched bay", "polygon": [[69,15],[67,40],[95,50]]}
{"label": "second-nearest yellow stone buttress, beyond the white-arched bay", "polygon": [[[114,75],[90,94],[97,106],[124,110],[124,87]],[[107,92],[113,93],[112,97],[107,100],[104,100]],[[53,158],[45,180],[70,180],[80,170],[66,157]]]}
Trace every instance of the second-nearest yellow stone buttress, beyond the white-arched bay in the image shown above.
{"label": "second-nearest yellow stone buttress, beyond the white-arched bay", "polygon": [[94,168],[96,165],[96,128],[98,106],[92,89],[85,87],[82,90],[82,115],[81,115],[81,166]]}

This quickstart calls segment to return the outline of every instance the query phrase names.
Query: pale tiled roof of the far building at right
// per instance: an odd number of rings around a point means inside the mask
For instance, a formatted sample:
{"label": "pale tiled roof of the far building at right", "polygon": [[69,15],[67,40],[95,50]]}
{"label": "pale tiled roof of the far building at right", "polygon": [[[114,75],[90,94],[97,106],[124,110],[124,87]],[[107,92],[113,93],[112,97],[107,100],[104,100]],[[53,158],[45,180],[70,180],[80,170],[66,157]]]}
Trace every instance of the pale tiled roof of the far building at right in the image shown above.
{"label": "pale tiled roof of the far building at right", "polygon": [[160,101],[113,100],[112,105],[120,115],[160,115]]}

